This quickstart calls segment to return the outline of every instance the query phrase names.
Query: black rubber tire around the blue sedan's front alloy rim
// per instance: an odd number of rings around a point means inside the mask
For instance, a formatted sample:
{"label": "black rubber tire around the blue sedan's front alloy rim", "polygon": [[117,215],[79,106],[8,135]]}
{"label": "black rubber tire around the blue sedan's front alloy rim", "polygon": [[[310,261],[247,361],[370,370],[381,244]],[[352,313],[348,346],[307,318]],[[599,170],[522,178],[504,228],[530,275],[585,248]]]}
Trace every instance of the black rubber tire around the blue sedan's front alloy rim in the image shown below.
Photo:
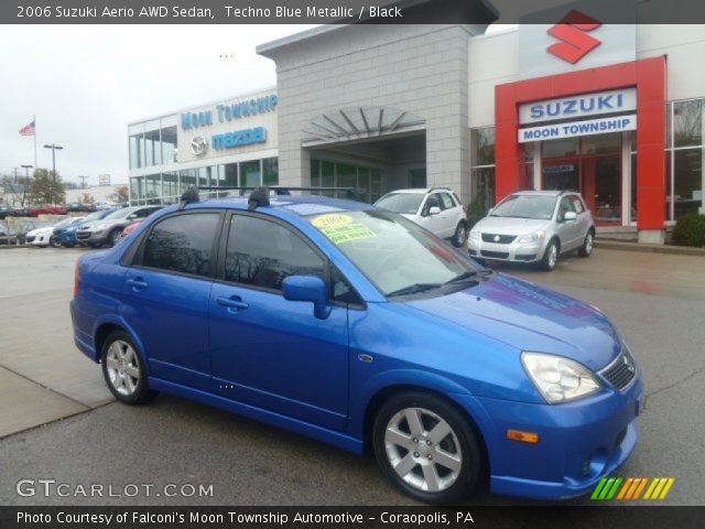
{"label": "black rubber tire around the blue sedan's front alloy rim", "polygon": [[[434,413],[451,427],[452,432],[446,434],[442,442],[438,442],[437,446],[432,444],[431,447],[426,447],[423,439],[420,439],[420,441],[422,441],[419,443],[420,451],[425,451],[426,455],[423,455],[423,453],[420,452],[412,453],[411,451],[408,451],[399,464],[402,464],[403,460],[406,457],[411,457],[414,466],[406,475],[411,476],[414,474],[414,476],[411,477],[412,479],[422,479],[424,478],[423,476],[425,476],[423,465],[430,464],[426,461],[426,457],[432,460],[432,454],[437,454],[438,449],[445,450],[446,453],[449,451],[454,451],[453,454],[459,453],[460,466],[457,477],[454,478],[455,481],[452,482],[447,488],[438,492],[422,490],[419,486],[414,486],[400,477],[390,462],[388,445],[386,443],[387,428],[390,424],[390,421],[393,421],[394,418],[399,417],[398,413],[410,408],[423,409]],[[422,417],[424,417],[425,420],[432,420],[429,415],[422,414]],[[426,424],[424,421],[421,422],[423,428],[426,428],[427,425],[429,430],[433,429],[433,423]],[[433,505],[448,505],[463,500],[474,492],[480,481],[480,476],[485,473],[479,440],[473,431],[468,419],[440,397],[421,391],[410,391],[395,395],[382,404],[375,418],[372,428],[372,445],[375,449],[375,456],[377,457],[380,468],[397,488],[413,499]],[[426,433],[423,435],[425,436]],[[411,429],[408,435],[413,435],[411,433]],[[411,443],[413,444],[413,440]],[[444,443],[449,444],[444,445]],[[397,447],[393,446],[390,450],[393,451],[397,450]],[[415,463],[416,461],[419,461],[419,463]],[[436,465],[438,465],[438,463],[434,462],[433,465],[437,472]],[[444,467],[442,466],[442,468]],[[447,471],[448,468],[445,469]],[[419,474],[421,474],[421,476],[419,476]],[[436,473],[436,476],[438,474]],[[447,475],[445,478],[447,478]],[[442,479],[444,478],[442,477]]]}

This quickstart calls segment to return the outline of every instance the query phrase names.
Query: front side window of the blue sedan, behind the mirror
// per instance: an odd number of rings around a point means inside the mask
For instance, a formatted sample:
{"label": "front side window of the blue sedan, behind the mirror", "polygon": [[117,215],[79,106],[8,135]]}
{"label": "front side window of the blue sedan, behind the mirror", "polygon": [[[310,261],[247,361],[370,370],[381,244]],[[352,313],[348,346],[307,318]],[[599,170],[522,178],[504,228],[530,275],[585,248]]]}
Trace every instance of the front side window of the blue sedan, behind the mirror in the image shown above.
{"label": "front side window of the blue sedan, behind the mirror", "polygon": [[232,215],[226,281],[281,291],[289,276],[323,279],[324,261],[291,229],[263,218]]}

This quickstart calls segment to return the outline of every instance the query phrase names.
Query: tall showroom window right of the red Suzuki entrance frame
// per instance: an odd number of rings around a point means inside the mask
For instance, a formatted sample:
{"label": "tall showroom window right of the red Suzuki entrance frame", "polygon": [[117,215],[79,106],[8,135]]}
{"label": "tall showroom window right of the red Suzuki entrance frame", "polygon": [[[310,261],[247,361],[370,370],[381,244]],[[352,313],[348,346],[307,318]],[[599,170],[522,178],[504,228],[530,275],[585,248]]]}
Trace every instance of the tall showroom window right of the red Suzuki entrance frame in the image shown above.
{"label": "tall showroom window right of the red Suzuki entrance frame", "polygon": [[671,213],[677,220],[683,215],[705,213],[703,202],[703,126],[705,99],[673,101],[671,104],[670,166]]}

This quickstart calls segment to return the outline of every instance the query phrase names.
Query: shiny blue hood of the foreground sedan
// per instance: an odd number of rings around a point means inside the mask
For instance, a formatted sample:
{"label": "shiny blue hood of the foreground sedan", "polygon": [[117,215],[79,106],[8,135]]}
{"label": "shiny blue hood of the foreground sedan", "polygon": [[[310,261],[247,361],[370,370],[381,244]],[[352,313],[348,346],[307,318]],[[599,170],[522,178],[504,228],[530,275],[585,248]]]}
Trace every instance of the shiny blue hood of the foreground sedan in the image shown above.
{"label": "shiny blue hood of the foreground sedan", "polygon": [[597,309],[501,273],[464,291],[406,305],[518,350],[566,356],[593,370],[621,350],[617,330]]}

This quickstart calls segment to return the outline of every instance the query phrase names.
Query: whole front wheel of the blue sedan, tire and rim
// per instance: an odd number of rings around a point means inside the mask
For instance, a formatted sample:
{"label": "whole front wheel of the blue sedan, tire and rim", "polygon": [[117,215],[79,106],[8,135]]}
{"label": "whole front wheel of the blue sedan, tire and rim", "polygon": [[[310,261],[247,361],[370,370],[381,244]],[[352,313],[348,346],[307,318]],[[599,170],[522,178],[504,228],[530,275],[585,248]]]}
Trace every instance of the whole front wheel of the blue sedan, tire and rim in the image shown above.
{"label": "whole front wheel of the blue sedan, tire and rim", "polygon": [[467,419],[430,393],[389,399],[375,419],[372,443],[387,477],[427,504],[464,499],[481,473],[479,443]]}

